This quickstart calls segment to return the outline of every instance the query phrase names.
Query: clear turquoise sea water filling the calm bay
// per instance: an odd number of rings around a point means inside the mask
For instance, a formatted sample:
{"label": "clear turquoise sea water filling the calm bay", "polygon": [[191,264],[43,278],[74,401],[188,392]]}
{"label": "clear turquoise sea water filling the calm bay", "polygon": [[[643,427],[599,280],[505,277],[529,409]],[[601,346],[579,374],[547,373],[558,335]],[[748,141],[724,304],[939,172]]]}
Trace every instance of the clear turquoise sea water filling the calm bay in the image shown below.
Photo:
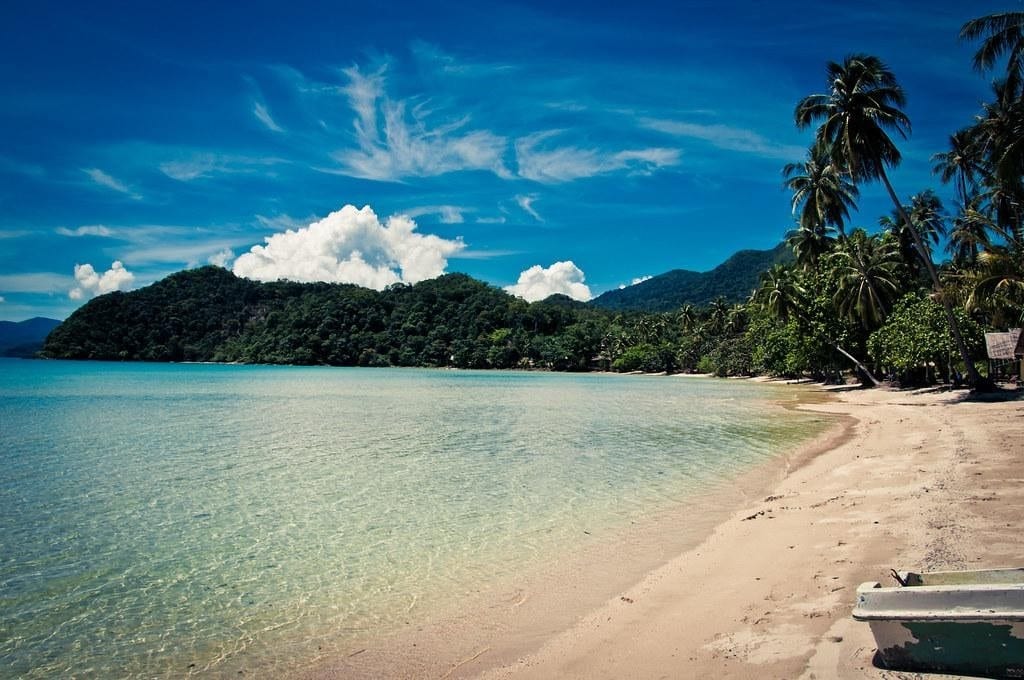
{"label": "clear turquoise sea water filling the calm bay", "polygon": [[819,432],[741,381],[0,360],[0,677],[237,677]]}

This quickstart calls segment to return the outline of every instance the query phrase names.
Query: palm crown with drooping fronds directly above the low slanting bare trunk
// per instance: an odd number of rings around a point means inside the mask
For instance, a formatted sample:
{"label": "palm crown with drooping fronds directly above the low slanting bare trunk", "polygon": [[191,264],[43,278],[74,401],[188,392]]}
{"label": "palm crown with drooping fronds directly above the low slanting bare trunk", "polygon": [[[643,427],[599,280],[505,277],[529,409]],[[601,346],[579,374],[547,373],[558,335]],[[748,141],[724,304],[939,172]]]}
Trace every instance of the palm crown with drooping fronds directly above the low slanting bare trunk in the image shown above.
{"label": "palm crown with drooping fronds directly above the low slanting bare trunk", "polygon": [[839,310],[871,331],[885,320],[900,295],[900,255],[893,242],[854,231],[831,255],[839,288]]}

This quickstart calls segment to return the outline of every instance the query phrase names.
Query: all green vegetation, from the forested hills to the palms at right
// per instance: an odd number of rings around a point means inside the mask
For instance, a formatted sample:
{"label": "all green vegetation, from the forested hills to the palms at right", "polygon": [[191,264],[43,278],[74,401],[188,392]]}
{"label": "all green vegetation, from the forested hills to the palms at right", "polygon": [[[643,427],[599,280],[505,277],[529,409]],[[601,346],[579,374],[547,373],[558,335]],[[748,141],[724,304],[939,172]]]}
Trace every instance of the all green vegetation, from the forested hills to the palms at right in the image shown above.
{"label": "all green vegetation, from the forested hills to the palms at right", "polygon": [[[535,303],[463,274],[376,292],[259,284],[217,267],[98,297],[48,337],[50,357],[337,366],[707,372],[878,383],[986,378],[983,334],[1024,325],[1024,12],[966,24],[991,100],[931,162],[931,187],[890,179],[910,134],[906,95],[879,57],[826,65],[797,102],[812,132],[782,168],[794,225],[771,251],[675,270],[590,303]],[[892,200],[851,224],[862,187]],[[944,249],[943,249],[944,245]],[[940,261],[936,262],[936,255]],[[948,258],[942,261],[942,255]]]}

